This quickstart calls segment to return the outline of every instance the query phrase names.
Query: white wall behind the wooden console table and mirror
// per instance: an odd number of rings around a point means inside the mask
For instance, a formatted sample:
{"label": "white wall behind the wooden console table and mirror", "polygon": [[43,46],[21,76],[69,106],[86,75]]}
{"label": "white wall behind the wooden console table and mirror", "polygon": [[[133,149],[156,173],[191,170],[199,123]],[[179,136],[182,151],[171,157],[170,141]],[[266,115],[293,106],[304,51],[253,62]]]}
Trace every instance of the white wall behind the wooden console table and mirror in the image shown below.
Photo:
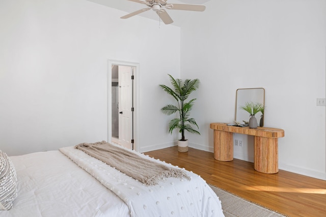
{"label": "white wall behind the wooden console table and mirror", "polygon": [[[279,168],[326,179],[326,1],[209,1],[181,30],[181,77],[199,78],[193,116],[201,136],[191,146],[213,150],[210,122],[233,122],[237,88],[265,88],[265,127],[285,130]],[[235,158],[252,161],[253,139]],[[248,140],[248,141],[247,141]]]}

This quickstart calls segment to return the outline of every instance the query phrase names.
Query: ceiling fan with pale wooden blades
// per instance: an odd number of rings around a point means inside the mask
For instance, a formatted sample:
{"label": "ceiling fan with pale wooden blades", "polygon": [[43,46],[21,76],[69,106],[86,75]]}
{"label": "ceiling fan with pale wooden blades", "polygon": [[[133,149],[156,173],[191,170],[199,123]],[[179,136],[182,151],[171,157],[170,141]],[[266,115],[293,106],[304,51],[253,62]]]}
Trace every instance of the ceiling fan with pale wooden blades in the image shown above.
{"label": "ceiling fan with pale wooden blades", "polygon": [[143,13],[145,11],[148,11],[150,9],[153,9],[153,11],[156,12],[156,14],[160,17],[160,19],[165,23],[165,24],[170,24],[173,23],[173,20],[171,19],[170,15],[165,9],[169,10],[184,10],[184,11],[204,11],[206,9],[206,6],[204,5],[189,5],[189,4],[168,4],[168,0],[146,0],[146,1],[141,1],[141,0],[128,0],[131,2],[136,2],[136,3],[141,3],[148,8],[144,8],[138,11],[134,11],[130,14],[127,14],[121,19],[127,19],[129,17],[132,17],[134,15]]}

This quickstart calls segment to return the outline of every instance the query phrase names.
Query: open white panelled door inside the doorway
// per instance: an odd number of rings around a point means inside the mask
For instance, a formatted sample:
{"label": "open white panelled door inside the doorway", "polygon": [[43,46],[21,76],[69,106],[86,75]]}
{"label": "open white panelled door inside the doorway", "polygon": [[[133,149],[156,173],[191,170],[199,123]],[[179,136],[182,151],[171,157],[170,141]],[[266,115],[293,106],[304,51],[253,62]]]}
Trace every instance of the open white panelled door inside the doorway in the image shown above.
{"label": "open white panelled door inside the doorway", "polygon": [[120,66],[119,73],[119,144],[132,149],[132,67]]}

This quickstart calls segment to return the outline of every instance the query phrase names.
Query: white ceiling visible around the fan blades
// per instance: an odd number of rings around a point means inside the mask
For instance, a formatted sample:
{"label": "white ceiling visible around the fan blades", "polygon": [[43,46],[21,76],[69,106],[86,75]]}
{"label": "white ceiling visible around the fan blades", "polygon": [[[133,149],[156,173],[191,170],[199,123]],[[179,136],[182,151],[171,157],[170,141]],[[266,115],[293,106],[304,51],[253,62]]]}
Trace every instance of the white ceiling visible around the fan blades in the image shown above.
{"label": "white ceiling visible around the fan blades", "polygon": [[[110,8],[119,9],[121,11],[125,11],[126,14],[140,10],[142,8],[147,8],[147,6],[130,2],[127,0],[87,0],[89,2],[94,2],[100,5],[108,6]],[[175,3],[175,4],[197,4],[197,5],[205,5],[204,3],[209,2],[211,0],[168,0],[169,4]],[[173,19],[173,23],[170,25],[176,25],[176,26],[182,26],[182,23],[186,21],[186,16],[191,16],[193,13],[203,13],[203,12],[193,12],[193,11],[177,11],[177,10],[167,10],[171,18]],[[123,15],[126,15],[123,14]],[[122,15],[122,16],[123,16]],[[159,17],[157,14],[150,10],[146,11],[144,13],[141,13],[136,16],[143,16],[147,17],[149,19],[153,20],[159,20]],[[132,19],[132,17],[128,18]],[[164,25],[163,22],[161,22],[162,25]]]}

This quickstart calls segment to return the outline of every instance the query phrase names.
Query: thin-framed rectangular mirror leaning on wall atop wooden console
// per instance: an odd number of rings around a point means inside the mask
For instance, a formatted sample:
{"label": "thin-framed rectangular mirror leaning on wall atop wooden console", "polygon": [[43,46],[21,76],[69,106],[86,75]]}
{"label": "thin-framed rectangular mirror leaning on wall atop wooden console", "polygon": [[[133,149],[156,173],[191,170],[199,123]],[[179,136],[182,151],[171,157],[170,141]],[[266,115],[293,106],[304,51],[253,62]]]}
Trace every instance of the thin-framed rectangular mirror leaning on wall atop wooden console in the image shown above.
{"label": "thin-framed rectangular mirror leaning on wall atop wooden console", "polygon": [[[246,103],[261,104],[265,107],[265,89],[264,88],[243,88],[236,90],[235,104],[235,121],[244,124],[244,121],[249,122],[250,114],[241,109],[241,106]],[[255,115],[258,126],[264,126],[264,109]]]}

